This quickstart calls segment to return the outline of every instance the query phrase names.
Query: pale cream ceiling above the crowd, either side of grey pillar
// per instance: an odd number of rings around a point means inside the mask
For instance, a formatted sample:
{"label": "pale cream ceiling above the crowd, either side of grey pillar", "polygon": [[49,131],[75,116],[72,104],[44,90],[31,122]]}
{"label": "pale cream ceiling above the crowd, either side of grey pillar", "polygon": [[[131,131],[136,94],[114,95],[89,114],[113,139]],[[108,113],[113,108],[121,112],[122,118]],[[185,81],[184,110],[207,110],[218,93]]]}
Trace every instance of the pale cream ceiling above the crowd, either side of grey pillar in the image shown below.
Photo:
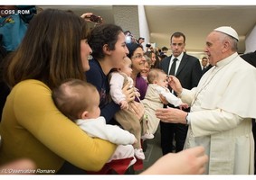
{"label": "pale cream ceiling above the crowd, either side of grey pillar", "polygon": [[[40,6],[43,9],[52,6]],[[72,10],[76,14],[100,14],[104,22],[114,23],[111,5],[54,6]],[[204,51],[207,34],[214,28],[232,26],[240,37],[239,52],[244,52],[244,40],[256,25],[256,5],[145,5],[150,42],[169,48],[170,35],[182,31],[186,36],[186,50]],[[256,43],[256,42],[255,42]]]}

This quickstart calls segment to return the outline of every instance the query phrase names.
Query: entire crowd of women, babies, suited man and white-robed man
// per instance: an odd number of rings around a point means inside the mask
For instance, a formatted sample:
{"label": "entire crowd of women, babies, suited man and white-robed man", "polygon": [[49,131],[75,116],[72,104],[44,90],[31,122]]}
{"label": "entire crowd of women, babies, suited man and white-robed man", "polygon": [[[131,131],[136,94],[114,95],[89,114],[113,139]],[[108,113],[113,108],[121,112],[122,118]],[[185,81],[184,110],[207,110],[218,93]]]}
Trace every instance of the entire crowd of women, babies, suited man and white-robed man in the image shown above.
{"label": "entire crowd of women, babies, suited man and white-robed man", "polygon": [[166,47],[144,49],[144,38],[118,25],[90,30],[90,15],[43,10],[3,58],[11,91],[0,169],[21,169],[25,158],[44,174],[99,172],[116,159],[128,159],[128,170],[145,159],[143,140],[159,123],[163,157],[142,175],[254,173],[256,69],[238,55],[235,30],[209,33],[203,73],[183,32],[171,35],[167,56]]}

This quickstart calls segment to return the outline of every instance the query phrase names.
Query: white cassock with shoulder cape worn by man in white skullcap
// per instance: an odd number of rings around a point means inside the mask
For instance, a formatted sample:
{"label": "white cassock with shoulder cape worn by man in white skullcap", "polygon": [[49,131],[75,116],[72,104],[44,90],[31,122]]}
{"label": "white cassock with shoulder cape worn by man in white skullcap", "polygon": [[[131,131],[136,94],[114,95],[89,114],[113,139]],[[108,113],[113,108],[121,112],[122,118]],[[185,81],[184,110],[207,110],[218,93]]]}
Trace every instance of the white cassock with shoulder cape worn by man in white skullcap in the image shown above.
{"label": "white cassock with shoulder cape worn by man in white skullcap", "polygon": [[253,174],[256,68],[234,53],[208,70],[197,87],[184,89],[181,99],[191,105],[185,148],[204,146],[205,174]]}

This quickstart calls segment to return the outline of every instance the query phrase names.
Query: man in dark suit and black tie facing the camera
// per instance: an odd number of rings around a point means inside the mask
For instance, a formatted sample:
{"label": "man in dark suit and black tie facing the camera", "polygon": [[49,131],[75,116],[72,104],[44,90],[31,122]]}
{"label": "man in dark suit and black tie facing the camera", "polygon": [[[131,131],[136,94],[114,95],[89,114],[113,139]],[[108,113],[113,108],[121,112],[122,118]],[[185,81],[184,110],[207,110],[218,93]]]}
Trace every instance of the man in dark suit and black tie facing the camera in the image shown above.
{"label": "man in dark suit and black tie facing the camera", "polygon": [[[192,89],[197,86],[202,76],[200,61],[198,58],[185,53],[185,35],[182,32],[177,31],[172,34],[170,41],[172,56],[161,60],[160,68],[167,75],[175,75],[186,89]],[[169,89],[171,90],[171,87]],[[168,104],[168,106],[174,107],[171,104]],[[189,112],[190,109],[188,108],[184,111]],[[175,152],[179,152],[184,148],[187,133],[186,125],[160,121],[160,132],[163,155],[172,152],[174,138]]]}

